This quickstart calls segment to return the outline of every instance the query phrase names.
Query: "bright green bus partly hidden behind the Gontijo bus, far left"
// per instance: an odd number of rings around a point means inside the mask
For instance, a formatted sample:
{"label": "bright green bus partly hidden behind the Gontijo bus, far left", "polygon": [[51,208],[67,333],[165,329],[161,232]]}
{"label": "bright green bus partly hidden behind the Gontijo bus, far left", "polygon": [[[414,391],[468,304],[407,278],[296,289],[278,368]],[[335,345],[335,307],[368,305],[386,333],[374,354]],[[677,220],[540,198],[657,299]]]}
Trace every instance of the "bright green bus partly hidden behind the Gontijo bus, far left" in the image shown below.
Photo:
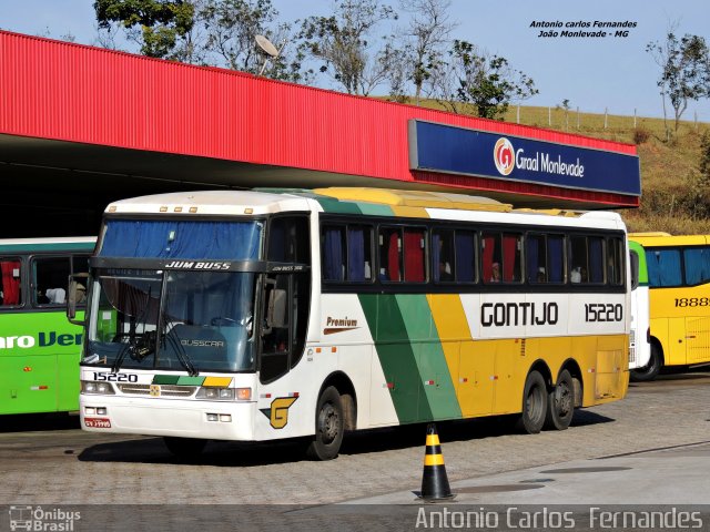
{"label": "bright green bus partly hidden behind the Gontijo bus, far left", "polygon": [[0,239],[0,415],[79,409],[82,330],[67,319],[67,287],[95,242]]}

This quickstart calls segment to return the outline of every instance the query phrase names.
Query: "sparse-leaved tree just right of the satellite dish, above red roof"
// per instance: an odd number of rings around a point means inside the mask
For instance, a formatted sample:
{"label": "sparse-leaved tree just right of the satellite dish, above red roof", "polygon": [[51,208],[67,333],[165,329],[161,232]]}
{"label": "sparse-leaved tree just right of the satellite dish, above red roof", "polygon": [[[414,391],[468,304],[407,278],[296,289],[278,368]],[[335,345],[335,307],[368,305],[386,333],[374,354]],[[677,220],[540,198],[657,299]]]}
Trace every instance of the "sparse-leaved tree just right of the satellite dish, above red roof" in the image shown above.
{"label": "sparse-leaved tree just right of the satellite dish, above red roof", "polygon": [[392,45],[375,50],[369,42],[377,24],[389,19],[396,19],[393,9],[376,0],[335,0],[332,16],[303,21],[301,50],[348,94],[367,95],[386,79],[395,53]]}

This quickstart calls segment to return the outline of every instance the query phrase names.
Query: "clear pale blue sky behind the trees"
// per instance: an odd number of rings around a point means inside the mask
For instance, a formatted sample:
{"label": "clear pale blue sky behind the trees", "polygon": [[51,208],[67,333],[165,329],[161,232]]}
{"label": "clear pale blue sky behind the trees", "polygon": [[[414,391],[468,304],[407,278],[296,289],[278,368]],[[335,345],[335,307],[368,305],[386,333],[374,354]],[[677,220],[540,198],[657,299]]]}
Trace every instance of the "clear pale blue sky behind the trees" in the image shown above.
{"label": "clear pale blue sky behind the trees", "polygon": [[[327,14],[328,0],[272,0],[280,20],[293,22],[308,14]],[[397,8],[397,0],[389,3]],[[97,41],[93,0],[0,0],[0,28],[75,42]],[[651,41],[662,41],[670,23],[677,33],[697,34],[710,43],[708,0],[452,0],[453,37],[469,41],[535,81],[539,94],[524,105],[556,106],[568,100],[582,112],[662,116],[656,85],[660,68],[646,52]],[[539,37],[532,22],[561,22],[557,37]],[[631,22],[628,37],[562,37],[567,22]],[[605,30],[613,33],[616,29]],[[691,102],[683,120],[710,122],[710,100]]]}

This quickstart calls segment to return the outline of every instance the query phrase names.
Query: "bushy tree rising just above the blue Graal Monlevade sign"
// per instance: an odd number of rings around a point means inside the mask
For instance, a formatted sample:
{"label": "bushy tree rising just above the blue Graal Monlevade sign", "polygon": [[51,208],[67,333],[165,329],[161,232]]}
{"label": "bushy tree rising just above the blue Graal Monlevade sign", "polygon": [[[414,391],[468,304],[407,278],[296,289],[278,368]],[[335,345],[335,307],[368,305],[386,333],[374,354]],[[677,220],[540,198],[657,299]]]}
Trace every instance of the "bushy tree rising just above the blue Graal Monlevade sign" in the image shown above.
{"label": "bushy tree rising just above the blue Graal Monlevade sign", "polygon": [[475,108],[477,116],[501,117],[511,102],[539,92],[532,79],[510,68],[507,59],[483,52],[467,41],[455,40],[449,58],[449,65],[437,74],[437,92],[439,102],[454,112],[462,112],[460,104],[467,104]]}

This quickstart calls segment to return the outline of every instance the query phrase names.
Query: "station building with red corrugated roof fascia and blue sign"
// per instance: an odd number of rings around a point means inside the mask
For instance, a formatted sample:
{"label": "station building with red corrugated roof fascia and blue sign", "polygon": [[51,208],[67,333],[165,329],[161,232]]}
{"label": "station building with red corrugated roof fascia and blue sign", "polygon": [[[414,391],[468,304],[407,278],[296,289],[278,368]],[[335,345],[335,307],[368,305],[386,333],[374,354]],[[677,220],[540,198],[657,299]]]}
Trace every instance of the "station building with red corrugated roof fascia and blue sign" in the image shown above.
{"label": "station building with red corrugated roof fascia and blue sign", "polygon": [[0,237],[92,235],[112,201],[376,186],[636,207],[636,146],[0,31]]}

